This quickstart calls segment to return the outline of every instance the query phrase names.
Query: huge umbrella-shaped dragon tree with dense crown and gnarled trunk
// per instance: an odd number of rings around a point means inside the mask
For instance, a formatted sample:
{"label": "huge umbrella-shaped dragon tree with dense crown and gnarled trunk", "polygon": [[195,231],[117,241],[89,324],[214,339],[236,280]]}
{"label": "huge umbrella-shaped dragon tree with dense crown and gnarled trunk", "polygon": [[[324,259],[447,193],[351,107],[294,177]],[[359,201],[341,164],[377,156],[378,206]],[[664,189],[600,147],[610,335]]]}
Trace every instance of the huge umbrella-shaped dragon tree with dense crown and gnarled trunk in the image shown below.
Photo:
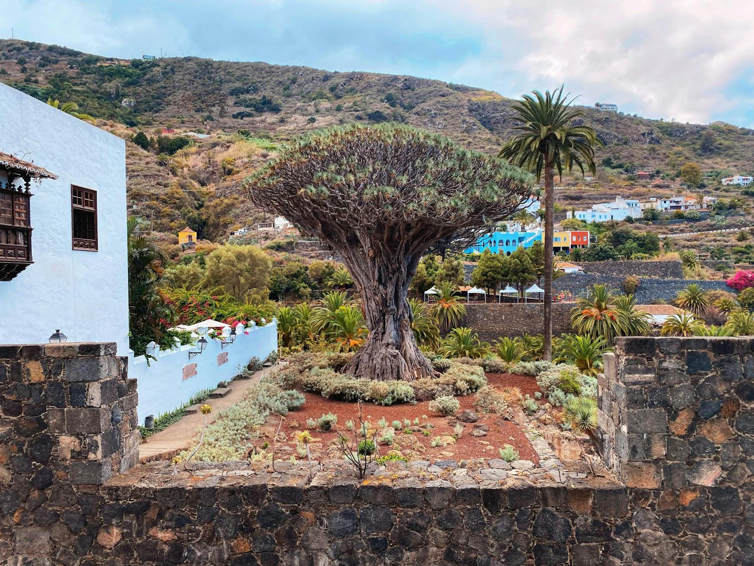
{"label": "huge umbrella-shaped dragon tree with dense crown and gnarled trunk", "polygon": [[293,140],[244,180],[253,203],[317,233],[342,256],[369,337],[344,371],[372,380],[434,374],[406,300],[421,255],[516,211],[533,177],[499,158],[400,125],[349,125]]}

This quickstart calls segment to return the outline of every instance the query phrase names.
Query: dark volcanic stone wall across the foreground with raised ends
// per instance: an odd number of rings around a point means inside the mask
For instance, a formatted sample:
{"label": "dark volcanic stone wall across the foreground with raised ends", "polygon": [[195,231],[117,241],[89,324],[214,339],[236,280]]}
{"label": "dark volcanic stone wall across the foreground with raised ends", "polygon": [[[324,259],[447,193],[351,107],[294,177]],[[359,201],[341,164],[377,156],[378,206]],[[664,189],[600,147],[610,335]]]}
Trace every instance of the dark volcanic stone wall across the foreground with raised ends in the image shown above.
{"label": "dark volcanic stone wall across the foreground with raised ends", "polygon": [[[114,345],[0,346],[0,557],[14,566],[751,566],[752,343],[618,340],[599,381],[599,425],[625,484],[609,472],[564,484],[477,481],[462,465],[412,476],[400,463],[362,482],[245,463],[173,475],[167,462],[102,484],[108,473],[78,475],[74,464],[129,466],[135,384]],[[106,455],[112,430],[121,448]]]}

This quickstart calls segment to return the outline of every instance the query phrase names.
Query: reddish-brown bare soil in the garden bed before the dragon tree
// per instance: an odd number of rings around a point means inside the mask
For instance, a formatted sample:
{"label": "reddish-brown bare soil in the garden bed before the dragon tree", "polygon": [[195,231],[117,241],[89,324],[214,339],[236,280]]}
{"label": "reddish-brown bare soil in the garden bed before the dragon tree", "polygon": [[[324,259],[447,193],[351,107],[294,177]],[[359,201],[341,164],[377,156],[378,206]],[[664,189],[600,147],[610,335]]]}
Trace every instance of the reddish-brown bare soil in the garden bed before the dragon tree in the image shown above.
{"label": "reddish-brown bare soil in the garden bed before the dragon tree", "polygon": [[[515,374],[487,374],[487,379],[490,385],[495,386],[495,389],[514,386],[521,389],[522,395],[526,395],[527,393],[533,395],[539,391],[534,377]],[[345,422],[347,420],[357,422],[358,406],[356,403],[333,401],[311,393],[305,393],[305,397],[306,401],[302,408],[297,411],[291,411],[280,429],[281,432],[286,433],[289,438],[287,444],[293,448],[296,447],[296,432],[308,428],[306,420],[309,418],[316,420],[326,413],[336,414],[338,417],[337,426],[342,430],[345,430]],[[459,411],[474,409],[476,395],[458,397],[458,401],[461,402]],[[416,405],[406,403],[390,405],[388,407],[372,404],[363,405],[363,419],[369,420],[372,426],[376,426],[380,418],[385,418],[388,426],[390,426],[394,420],[403,422],[404,419],[408,419],[413,423],[416,417],[419,419],[420,426],[425,423],[434,425],[434,428],[430,430],[429,436],[425,436],[421,432],[414,432],[411,435],[415,441],[421,443],[425,448],[425,451],[421,451],[416,459],[435,461],[497,458],[499,457],[498,449],[503,448],[504,444],[511,444],[519,452],[522,460],[531,460],[535,464],[539,463],[539,458],[532,448],[532,444],[529,443],[529,439],[526,438],[516,423],[510,420],[503,420],[496,414],[486,414],[478,411],[477,414],[480,417],[477,423],[461,423],[464,424],[464,432],[456,440],[455,444],[448,444],[444,448],[433,448],[431,446],[432,438],[435,436],[452,435],[453,426],[449,424],[449,417],[434,414],[429,410],[429,401],[417,403]],[[428,418],[422,419],[422,415],[427,415]],[[271,417],[269,424],[277,428],[278,422],[277,417]],[[296,426],[292,426],[294,423]],[[485,424],[488,426],[487,435],[479,438],[470,436],[469,432],[474,429],[474,424]],[[311,430],[310,432],[316,439],[315,441],[321,443],[324,448],[328,447],[337,438],[336,432],[333,431],[322,432],[320,430]],[[403,430],[397,430],[395,432],[397,442],[392,446],[381,445],[380,452],[385,454],[385,452],[391,449],[400,450],[398,444],[401,439],[398,437],[404,435]],[[349,438],[351,438],[350,434]],[[280,444],[278,443],[278,446]],[[296,452],[294,451],[293,454],[296,454]],[[335,456],[333,455],[333,457]]]}

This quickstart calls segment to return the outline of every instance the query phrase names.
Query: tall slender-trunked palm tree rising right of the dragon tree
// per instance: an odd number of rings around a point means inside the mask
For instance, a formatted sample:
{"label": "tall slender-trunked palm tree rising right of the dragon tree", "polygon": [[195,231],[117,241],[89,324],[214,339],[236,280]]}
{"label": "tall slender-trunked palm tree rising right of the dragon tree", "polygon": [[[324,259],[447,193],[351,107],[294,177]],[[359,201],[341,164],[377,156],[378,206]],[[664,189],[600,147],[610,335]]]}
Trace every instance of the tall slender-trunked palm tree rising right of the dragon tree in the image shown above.
{"label": "tall slender-trunked palm tree rising right of the dragon tree", "polygon": [[534,91],[511,105],[516,134],[503,146],[499,156],[513,165],[533,171],[538,180],[544,174],[544,359],[552,358],[553,338],[553,208],[554,177],[557,171],[578,168],[582,174],[596,171],[594,146],[601,145],[593,128],[574,126],[572,121],[584,111],[571,107],[573,99],[562,86],[552,93]]}

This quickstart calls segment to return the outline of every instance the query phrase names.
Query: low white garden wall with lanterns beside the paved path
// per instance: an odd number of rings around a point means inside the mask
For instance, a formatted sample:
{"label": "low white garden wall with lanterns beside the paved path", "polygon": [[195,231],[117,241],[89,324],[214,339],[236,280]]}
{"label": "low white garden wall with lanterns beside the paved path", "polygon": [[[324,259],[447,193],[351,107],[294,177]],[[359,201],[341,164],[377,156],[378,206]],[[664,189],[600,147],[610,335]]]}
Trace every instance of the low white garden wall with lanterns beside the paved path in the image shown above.
{"label": "low white garden wall with lanterns beside the paved path", "polygon": [[[277,321],[265,326],[251,326],[245,331],[237,327],[238,336],[232,344],[221,347],[220,340],[207,337],[207,348],[189,359],[196,346],[154,352],[155,359],[146,363],[143,355],[128,359],[128,377],[138,380],[139,424],[144,417],[172,411],[202,389],[215,389],[220,381],[230,380],[256,356],[264,361],[277,350]],[[248,334],[247,334],[248,333]],[[227,355],[227,360],[225,359]],[[195,366],[193,366],[195,364]]]}

